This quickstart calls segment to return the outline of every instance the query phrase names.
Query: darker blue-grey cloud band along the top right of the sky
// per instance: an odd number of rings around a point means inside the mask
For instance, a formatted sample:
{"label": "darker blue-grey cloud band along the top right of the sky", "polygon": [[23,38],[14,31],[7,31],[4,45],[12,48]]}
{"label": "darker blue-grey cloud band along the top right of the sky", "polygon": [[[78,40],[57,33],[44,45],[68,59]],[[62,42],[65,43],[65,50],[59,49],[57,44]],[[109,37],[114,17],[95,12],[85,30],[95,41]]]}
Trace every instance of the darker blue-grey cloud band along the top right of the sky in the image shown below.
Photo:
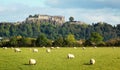
{"label": "darker blue-grey cloud band along the top right of the sky", "polygon": [[120,8],[120,0],[46,0],[45,3],[58,8]]}

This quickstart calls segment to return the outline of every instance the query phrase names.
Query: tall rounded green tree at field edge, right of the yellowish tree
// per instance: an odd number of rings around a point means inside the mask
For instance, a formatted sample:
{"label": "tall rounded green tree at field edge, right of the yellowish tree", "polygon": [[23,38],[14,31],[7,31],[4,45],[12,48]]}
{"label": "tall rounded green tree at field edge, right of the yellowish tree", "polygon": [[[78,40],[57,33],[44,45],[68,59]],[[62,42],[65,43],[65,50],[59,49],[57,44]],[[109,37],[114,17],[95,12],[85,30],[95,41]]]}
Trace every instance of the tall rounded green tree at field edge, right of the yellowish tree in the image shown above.
{"label": "tall rounded green tree at field edge, right of the yellowish tree", "polygon": [[103,41],[103,37],[97,32],[92,32],[90,36],[90,41],[93,45],[96,45]]}

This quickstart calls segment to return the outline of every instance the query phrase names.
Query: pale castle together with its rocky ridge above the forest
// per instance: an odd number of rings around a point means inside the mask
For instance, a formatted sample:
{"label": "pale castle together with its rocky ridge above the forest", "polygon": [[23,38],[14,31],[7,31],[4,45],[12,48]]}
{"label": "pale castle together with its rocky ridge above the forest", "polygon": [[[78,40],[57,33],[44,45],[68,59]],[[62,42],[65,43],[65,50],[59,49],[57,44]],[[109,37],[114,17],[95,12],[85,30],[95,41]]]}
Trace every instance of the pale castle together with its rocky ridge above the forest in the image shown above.
{"label": "pale castle together with its rocky ridge above the forest", "polygon": [[51,23],[53,25],[63,25],[66,22],[69,22],[70,24],[86,24],[85,22],[82,22],[82,21],[74,21],[74,20],[65,21],[64,16],[51,16],[51,15],[43,15],[43,14],[29,15],[24,21],[1,22],[1,23],[12,23],[14,25],[24,24],[24,23],[40,23],[40,24]]}

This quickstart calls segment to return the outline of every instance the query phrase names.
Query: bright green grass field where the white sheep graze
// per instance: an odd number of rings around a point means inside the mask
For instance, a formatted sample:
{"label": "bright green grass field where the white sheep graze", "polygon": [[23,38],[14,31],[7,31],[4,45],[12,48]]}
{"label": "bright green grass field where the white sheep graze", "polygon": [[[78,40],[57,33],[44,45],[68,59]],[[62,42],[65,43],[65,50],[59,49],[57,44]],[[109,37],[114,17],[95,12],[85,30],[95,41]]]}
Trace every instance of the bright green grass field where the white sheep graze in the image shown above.
{"label": "bright green grass field where the white sheep graze", "polygon": [[[33,53],[30,48],[21,48],[22,52],[13,49],[0,48],[0,70],[120,70],[120,48],[38,48],[38,53]],[[68,59],[67,54],[75,55]],[[36,65],[29,65],[29,59],[37,61]],[[89,64],[94,58],[96,63]]]}

